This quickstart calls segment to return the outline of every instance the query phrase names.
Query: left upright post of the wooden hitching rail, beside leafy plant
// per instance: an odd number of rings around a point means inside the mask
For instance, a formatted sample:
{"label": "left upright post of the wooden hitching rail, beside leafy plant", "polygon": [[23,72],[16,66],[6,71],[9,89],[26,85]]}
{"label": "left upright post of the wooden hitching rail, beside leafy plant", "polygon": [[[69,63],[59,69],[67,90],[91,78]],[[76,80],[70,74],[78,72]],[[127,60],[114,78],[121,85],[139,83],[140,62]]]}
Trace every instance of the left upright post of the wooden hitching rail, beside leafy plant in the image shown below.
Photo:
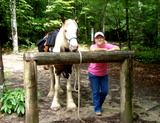
{"label": "left upright post of the wooden hitching rail, beside leafy plant", "polygon": [[24,61],[25,123],[38,123],[37,65],[35,61]]}

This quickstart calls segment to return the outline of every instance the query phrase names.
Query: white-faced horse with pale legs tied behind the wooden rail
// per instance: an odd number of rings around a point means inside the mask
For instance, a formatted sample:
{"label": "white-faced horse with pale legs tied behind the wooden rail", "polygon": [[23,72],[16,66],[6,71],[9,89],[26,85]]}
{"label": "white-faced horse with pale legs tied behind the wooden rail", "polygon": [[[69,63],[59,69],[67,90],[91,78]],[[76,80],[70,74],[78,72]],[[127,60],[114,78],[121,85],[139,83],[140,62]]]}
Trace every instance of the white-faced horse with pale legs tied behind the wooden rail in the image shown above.
{"label": "white-faced horse with pale legs tied behind the wooden rail", "polygon": [[[68,19],[65,20],[62,27],[57,34],[55,46],[53,47],[53,52],[76,52],[78,49],[77,41],[77,29],[78,25],[75,20]],[[76,108],[76,104],[72,97],[71,88],[71,73],[72,65],[54,65],[54,75],[55,75],[55,85],[54,85],[54,97],[51,104],[51,109],[58,110],[61,105],[59,103],[59,89],[60,89],[60,75],[63,74],[67,79],[67,109],[73,110]],[[52,91],[53,91],[52,90]]]}

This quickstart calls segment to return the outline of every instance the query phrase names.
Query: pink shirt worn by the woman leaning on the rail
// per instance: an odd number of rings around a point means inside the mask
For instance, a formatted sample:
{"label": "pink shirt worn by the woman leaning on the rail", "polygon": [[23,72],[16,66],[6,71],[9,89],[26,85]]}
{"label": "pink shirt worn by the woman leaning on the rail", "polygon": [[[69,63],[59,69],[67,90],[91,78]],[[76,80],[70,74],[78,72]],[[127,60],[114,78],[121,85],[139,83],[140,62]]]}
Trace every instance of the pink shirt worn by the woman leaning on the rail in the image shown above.
{"label": "pink shirt worn by the woman leaning on the rail", "polygon": [[[101,47],[98,47],[96,44],[91,45],[91,48],[106,48],[112,49],[114,45],[112,44],[104,44]],[[108,65],[107,63],[90,63],[88,67],[88,72],[95,76],[105,76],[108,74]]]}

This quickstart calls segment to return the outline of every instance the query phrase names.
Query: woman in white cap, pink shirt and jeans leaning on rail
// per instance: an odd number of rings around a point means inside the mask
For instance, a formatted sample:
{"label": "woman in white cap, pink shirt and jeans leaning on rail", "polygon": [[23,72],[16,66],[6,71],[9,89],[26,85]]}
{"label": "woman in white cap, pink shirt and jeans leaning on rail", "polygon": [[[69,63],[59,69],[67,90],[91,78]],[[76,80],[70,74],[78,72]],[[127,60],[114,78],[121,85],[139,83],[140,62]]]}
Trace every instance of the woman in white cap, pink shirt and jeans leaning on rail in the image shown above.
{"label": "woman in white cap, pink shirt and jeans leaning on rail", "polygon": [[[109,44],[105,40],[104,34],[102,32],[96,32],[94,40],[95,44],[91,45],[91,51],[119,50],[118,46]],[[109,90],[107,63],[90,63],[88,67],[88,77],[92,90],[94,112],[96,113],[96,115],[102,115],[102,105]]]}

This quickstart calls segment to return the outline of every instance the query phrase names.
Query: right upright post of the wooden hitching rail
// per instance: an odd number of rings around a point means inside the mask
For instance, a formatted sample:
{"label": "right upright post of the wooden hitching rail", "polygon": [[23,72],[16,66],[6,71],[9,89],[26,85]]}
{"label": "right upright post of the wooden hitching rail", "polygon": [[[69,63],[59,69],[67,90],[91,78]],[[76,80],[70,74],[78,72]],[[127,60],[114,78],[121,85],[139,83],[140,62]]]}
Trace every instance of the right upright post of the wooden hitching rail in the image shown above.
{"label": "right upright post of the wooden hitching rail", "polygon": [[132,59],[125,59],[120,70],[121,104],[120,121],[121,123],[132,123]]}

